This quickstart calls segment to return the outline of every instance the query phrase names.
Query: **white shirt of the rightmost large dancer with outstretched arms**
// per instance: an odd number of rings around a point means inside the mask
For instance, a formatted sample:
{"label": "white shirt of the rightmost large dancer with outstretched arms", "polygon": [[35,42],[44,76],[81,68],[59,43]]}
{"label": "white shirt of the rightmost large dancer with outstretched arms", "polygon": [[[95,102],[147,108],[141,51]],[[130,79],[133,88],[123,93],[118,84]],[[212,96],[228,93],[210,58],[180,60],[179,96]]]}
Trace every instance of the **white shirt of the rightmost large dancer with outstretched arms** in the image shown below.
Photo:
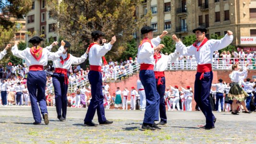
{"label": "white shirt of the rightmost large dancer with outstretched arms", "polygon": [[[198,51],[193,45],[186,47],[181,41],[176,43],[177,52],[184,56],[195,55],[197,64],[208,64],[212,63],[213,53],[216,50],[226,48],[232,43],[233,35],[228,36],[227,34],[220,40],[210,39],[208,40]],[[199,44],[199,43],[198,43]]]}

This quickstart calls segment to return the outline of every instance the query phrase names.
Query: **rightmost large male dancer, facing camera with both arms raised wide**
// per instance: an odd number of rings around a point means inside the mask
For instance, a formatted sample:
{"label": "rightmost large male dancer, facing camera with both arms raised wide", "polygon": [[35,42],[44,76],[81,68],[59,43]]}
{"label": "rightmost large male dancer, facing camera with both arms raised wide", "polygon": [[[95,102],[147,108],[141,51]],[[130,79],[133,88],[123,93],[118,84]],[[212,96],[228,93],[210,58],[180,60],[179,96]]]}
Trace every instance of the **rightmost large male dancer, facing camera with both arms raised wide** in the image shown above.
{"label": "rightmost large male dancer, facing camera with both arms raised wide", "polygon": [[206,38],[207,29],[200,26],[193,30],[196,41],[192,46],[186,47],[177,36],[173,35],[172,39],[176,41],[176,50],[182,55],[195,55],[197,60],[197,73],[195,75],[195,102],[202,110],[206,117],[206,125],[201,127],[209,130],[214,127],[217,120],[211,110],[210,89],[213,79],[212,59],[216,50],[227,47],[233,40],[233,33],[227,31],[227,34],[220,40]]}

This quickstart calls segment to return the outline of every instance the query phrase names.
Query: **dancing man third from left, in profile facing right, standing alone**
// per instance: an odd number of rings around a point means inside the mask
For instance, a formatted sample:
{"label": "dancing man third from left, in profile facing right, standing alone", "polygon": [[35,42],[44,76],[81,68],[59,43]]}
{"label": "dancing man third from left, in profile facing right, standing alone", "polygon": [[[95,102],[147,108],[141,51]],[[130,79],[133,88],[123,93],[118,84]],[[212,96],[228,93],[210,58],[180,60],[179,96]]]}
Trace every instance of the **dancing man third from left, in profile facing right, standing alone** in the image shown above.
{"label": "dancing man third from left, in profile facing right, standing alone", "polygon": [[[90,100],[90,104],[84,121],[85,125],[87,126],[98,126],[98,124],[92,122],[96,109],[98,114],[98,122],[100,125],[113,123],[113,121],[106,120],[105,118],[105,109],[103,106],[104,96],[102,94],[101,57],[104,57],[104,55],[108,51],[110,51],[112,45],[116,42],[116,36],[112,37],[110,43],[106,43],[107,40],[102,39],[102,36],[104,36],[104,34],[101,31],[93,31],[91,33],[91,36],[94,42],[91,43],[88,48],[88,57],[90,63],[88,80],[91,84],[92,99]],[[103,45],[100,46],[101,44]]]}

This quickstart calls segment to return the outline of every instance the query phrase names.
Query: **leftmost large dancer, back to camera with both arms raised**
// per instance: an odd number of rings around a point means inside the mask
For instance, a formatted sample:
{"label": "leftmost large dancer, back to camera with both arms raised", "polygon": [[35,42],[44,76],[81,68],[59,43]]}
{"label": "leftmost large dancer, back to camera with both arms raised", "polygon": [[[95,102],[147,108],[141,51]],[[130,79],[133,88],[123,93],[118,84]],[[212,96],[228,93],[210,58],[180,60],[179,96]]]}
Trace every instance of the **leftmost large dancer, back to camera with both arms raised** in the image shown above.
{"label": "leftmost large dancer, back to camera with both arms raised", "polygon": [[[27,89],[30,96],[31,108],[35,122],[33,124],[41,123],[41,114],[45,124],[49,124],[48,111],[46,107],[45,88],[46,88],[46,72],[43,71],[44,66],[47,65],[48,60],[59,58],[64,52],[63,46],[65,43],[61,41],[61,47],[55,53],[50,52],[47,48],[41,48],[39,46],[43,39],[41,37],[32,37],[29,42],[32,43],[32,48],[26,48],[24,50],[18,50],[15,42],[12,47],[12,54],[18,58],[24,59],[25,63],[29,67],[27,74]],[[52,43],[50,47],[56,45],[56,42]],[[39,103],[40,110],[37,102]]]}

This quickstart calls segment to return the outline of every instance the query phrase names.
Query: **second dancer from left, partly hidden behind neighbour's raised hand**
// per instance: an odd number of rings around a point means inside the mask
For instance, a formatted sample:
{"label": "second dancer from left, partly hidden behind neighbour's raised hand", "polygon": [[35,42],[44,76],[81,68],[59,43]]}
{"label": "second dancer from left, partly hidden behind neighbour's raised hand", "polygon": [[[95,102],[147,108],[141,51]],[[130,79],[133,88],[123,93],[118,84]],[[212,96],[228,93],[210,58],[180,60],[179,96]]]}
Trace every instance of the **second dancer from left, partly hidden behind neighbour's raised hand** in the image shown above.
{"label": "second dancer from left, partly hidden behind neighbour's raised hand", "polygon": [[[71,47],[71,44],[68,41],[64,42],[65,51],[61,54],[60,58],[52,60],[53,67],[55,68],[52,75],[52,83],[54,86],[57,118],[61,121],[66,120],[67,114],[68,69],[72,64],[80,64],[84,62],[88,53],[88,50],[86,50],[81,58],[74,57],[72,54],[68,53],[68,48]],[[59,46],[61,46],[60,43]]]}

